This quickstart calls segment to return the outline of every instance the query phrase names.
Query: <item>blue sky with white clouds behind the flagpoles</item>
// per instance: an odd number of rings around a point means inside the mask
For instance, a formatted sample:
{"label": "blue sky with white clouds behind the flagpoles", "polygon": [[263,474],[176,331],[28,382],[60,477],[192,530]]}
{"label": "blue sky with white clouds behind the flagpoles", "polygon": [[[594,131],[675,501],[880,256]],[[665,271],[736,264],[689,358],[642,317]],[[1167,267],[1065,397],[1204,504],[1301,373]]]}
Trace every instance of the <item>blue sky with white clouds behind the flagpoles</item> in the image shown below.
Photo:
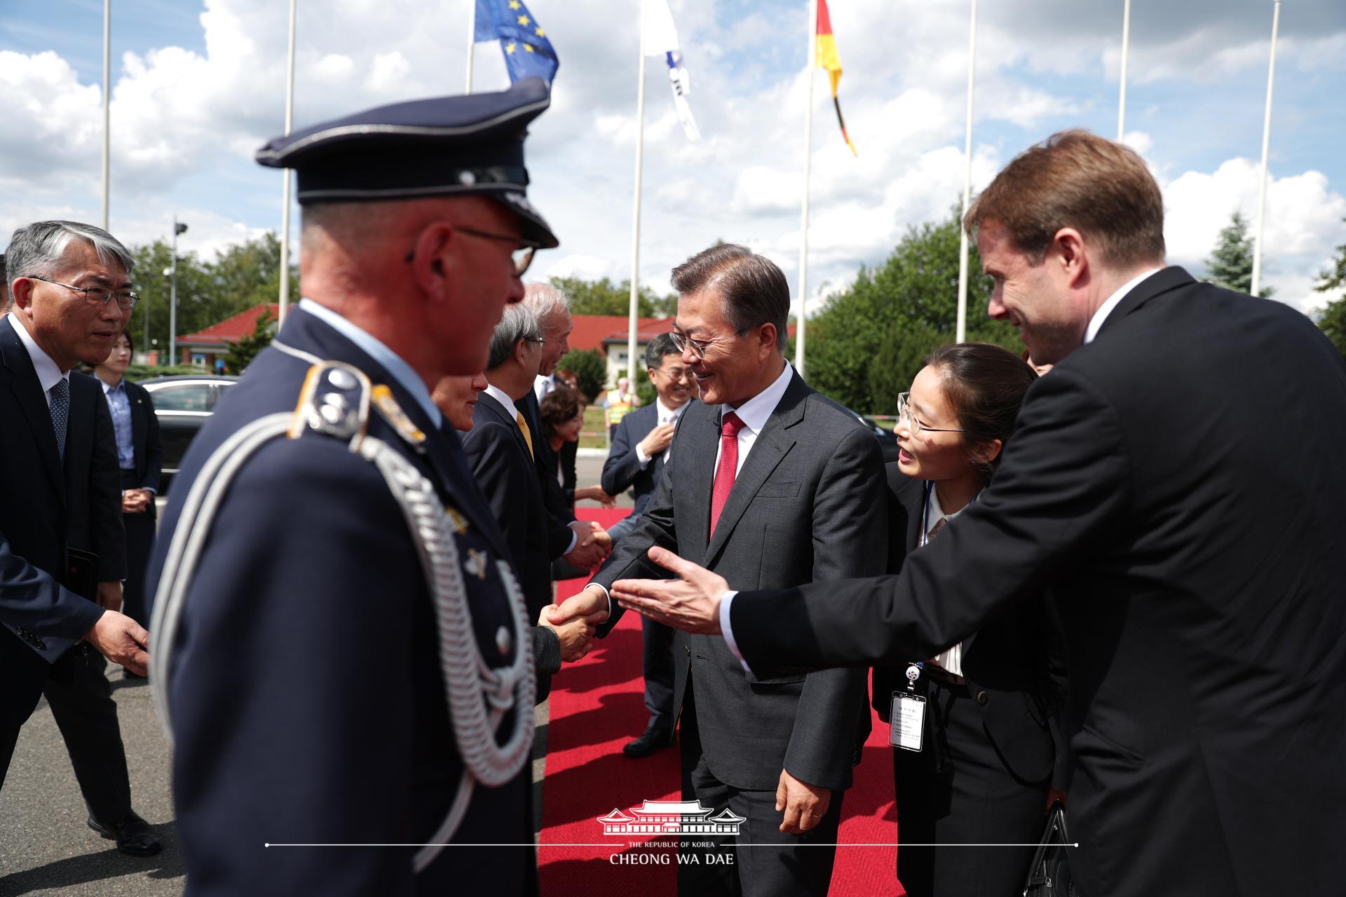
{"label": "blue sky with white clouds behind the flagpoles", "polygon": [[[433,8],[431,8],[433,5]],[[688,144],[666,78],[647,81],[641,280],[716,238],[751,242],[795,277],[804,0],[670,3],[703,140]],[[532,0],[561,59],[529,144],[530,194],[563,246],[541,273],[630,269],[637,0]],[[845,151],[814,81],[809,295],[880,262],[961,191],[966,0],[833,0]],[[98,217],[102,3],[0,0],[0,230]],[[466,0],[300,0],[296,125],[462,90]],[[1114,136],[1121,0],[1001,0],[979,9],[975,184],[1054,130]],[[1133,0],[1128,141],[1166,191],[1171,261],[1199,270],[1215,231],[1256,206],[1272,4]],[[280,225],[280,178],[250,153],[283,126],[285,4],[113,3],[112,230],[203,254]],[[476,48],[476,87],[505,85]],[[1346,242],[1346,4],[1284,4],[1276,69],[1267,280],[1308,309]],[[812,308],[812,305],[810,305]]]}

